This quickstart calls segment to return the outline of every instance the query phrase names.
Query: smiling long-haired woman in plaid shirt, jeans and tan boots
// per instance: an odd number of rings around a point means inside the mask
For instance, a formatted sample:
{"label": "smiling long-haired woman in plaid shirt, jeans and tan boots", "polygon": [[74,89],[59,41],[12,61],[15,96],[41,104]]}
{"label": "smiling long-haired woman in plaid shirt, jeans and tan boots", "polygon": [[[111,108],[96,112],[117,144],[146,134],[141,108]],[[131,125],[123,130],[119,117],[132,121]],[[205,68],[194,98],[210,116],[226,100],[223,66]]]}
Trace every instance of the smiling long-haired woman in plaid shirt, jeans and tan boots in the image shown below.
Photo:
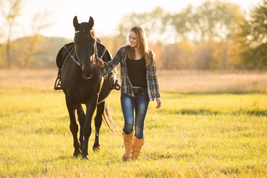
{"label": "smiling long-haired woman in plaid shirt, jeans and tan boots", "polygon": [[156,98],[156,108],[160,108],[161,94],[155,54],[148,46],[144,30],[139,26],[132,27],[127,40],[128,44],[116,52],[113,60],[105,63],[99,58],[96,64],[99,64],[102,74],[105,75],[121,63],[121,107],[125,146],[123,161],[135,161],[144,143],[144,121],[149,101]]}

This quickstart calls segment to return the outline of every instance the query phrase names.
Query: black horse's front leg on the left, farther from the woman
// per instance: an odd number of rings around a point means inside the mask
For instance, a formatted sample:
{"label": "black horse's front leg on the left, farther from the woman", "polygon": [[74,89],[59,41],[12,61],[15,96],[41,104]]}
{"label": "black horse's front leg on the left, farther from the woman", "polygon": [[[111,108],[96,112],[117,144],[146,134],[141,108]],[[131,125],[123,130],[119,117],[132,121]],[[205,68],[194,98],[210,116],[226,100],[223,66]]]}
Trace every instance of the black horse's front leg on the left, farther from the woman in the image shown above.
{"label": "black horse's front leg on the left, farther from the woman", "polygon": [[66,105],[70,116],[70,131],[73,136],[73,146],[74,146],[73,156],[77,157],[78,155],[81,154],[81,150],[80,150],[80,143],[77,137],[79,128],[75,117],[76,106],[73,105],[73,103],[67,98],[66,98]]}

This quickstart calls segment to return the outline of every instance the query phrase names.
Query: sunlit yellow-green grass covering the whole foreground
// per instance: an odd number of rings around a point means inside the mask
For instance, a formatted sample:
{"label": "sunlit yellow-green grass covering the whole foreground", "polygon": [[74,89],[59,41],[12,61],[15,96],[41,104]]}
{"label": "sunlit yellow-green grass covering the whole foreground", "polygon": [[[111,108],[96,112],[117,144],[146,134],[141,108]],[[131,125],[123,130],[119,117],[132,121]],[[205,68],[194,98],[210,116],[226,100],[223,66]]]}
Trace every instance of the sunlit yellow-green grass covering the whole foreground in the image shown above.
{"label": "sunlit yellow-green grass covering the whole foreground", "polygon": [[266,178],[267,94],[162,92],[149,105],[145,144],[137,163],[123,162],[120,91],[108,98],[119,128],[104,124],[100,151],[73,158],[62,91],[0,92],[2,178]]}

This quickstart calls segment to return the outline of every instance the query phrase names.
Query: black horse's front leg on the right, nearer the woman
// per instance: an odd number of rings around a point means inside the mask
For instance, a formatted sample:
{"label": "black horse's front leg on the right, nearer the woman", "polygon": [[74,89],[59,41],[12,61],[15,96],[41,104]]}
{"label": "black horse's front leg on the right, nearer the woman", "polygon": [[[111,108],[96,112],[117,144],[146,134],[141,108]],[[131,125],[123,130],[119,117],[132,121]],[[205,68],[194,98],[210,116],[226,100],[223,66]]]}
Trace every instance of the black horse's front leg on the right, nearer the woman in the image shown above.
{"label": "black horse's front leg on the right, nearer the woman", "polygon": [[98,94],[96,93],[86,103],[86,121],[83,126],[84,145],[82,150],[82,156],[86,159],[88,159],[88,142],[92,132],[91,122],[92,122],[93,112],[96,108],[97,98]]}

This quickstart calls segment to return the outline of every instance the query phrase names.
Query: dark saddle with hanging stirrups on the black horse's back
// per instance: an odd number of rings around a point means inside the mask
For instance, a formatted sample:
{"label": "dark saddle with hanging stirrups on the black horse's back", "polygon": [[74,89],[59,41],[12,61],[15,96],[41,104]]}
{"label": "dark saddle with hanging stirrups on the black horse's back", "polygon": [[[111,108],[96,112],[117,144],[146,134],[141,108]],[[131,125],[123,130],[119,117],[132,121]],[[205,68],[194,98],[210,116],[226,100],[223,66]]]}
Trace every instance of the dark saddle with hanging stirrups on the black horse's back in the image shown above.
{"label": "dark saddle with hanging stirrups on the black horse's back", "polygon": [[[97,49],[99,50],[99,52],[103,53],[105,50],[105,46],[101,44],[101,41],[97,38]],[[67,48],[68,51],[71,51],[75,45],[74,43],[69,43],[66,44],[65,47]],[[57,78],[55,80],[55,84],[54,84],[54,89],[55,90],[60,90],[62,89],[61,87],[61,70],[62,70],[62,65],[64,63],[64,60],[66,60],[67,56],[68,56],[68,51],[67,51],[64,46],[61,47],[61,49],[58,51],[57,55],[56,55],[56,66],[58,67],[58,74],[57,74]],[[112,55],[110,54],[110,52],[108,50],[106,50],[109,55],[108,55],[108,59],[107,61],[110,61],[112,59]],[[115,89],[115,90],[120,90],[121,89],[121,84],[120,81],[118,81],[117,79],[115,80],[114,75],[117,75],[117,71],[116,68],[111,72],[111,83],[110,83],[110,87],[109,89]],[[105,77],[106,78],[106,77]]]}

